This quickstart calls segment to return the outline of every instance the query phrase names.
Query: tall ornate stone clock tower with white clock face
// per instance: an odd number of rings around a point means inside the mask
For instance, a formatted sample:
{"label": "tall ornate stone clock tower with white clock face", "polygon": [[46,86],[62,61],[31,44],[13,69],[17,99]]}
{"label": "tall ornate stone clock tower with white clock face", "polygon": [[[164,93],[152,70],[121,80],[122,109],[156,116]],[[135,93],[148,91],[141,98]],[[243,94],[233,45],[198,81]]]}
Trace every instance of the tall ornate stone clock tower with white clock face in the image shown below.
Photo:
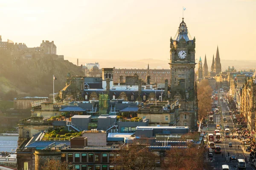
{"label": "tall ornate stone clock tower with white clock face", "polygon": [[184,18],[175,37],[170,39],[171,90],[169,102],[179,102],[176,126],[197,129],[198,104],[195,86],[195,37],[192,39]]}

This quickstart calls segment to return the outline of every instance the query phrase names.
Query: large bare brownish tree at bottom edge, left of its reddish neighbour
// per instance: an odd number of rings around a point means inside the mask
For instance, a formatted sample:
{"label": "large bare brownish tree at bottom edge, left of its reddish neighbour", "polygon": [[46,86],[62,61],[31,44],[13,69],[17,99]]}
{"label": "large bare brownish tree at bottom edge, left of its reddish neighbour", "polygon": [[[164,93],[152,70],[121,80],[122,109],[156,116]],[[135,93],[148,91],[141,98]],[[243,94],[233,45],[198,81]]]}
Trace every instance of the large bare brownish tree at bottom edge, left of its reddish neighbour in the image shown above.
{"label": "large bare brownish tree at bottom edge, left of its reddish neighbour", "polygon": [[147,145],[128,144],[123,146],[112,163],[117,165],[118,170],[154,170],[160,156],[150,151]]}

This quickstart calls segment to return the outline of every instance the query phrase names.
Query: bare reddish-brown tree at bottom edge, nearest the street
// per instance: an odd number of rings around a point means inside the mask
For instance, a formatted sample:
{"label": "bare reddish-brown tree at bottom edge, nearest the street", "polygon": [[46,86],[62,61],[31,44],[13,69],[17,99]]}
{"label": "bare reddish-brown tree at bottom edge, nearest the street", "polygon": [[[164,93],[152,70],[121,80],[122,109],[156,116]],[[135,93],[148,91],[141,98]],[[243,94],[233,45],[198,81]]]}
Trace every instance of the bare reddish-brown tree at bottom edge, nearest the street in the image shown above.
{"label": "bare reddish-brown tree at bottom edge, nearest the street", "polygon": [[173,147],[166,151],[162,166],[165,170],[203,170],[204,147],[197,144],[187,148]]}

